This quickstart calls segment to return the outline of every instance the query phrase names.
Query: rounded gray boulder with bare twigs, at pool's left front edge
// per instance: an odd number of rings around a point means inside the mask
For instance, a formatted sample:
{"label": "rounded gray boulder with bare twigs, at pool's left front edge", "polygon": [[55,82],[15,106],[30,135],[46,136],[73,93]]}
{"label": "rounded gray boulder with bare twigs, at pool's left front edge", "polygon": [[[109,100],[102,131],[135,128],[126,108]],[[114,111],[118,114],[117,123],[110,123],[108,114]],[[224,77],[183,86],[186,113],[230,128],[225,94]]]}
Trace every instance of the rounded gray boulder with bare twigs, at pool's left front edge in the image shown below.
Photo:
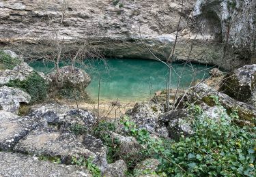
{"label": "rounded gray boulder with bare twigs, at pool's left front edge", "polygon": [[53,71],[48,74],[48,78],[59,82],[63,88],[77,88],[79,91],[84,91],[91,82],[90,76],[83,69],[72,66],[61,67],[59,72]]}

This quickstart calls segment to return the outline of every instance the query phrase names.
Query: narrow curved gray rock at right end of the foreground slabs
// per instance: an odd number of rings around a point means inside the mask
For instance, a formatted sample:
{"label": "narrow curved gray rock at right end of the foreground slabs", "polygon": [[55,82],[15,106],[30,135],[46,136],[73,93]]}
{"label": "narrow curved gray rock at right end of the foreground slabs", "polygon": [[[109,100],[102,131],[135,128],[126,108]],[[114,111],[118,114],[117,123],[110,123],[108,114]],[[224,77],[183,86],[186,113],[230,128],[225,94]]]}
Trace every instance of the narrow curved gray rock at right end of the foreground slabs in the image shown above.
{"label": "narrow curved gray rock at right end of the foreground slabs", "polygon": [[106,161],[106,147],[103,145],[100,139],[93,137],[92,135],[84,135],[82,140],[83,146],[94,152],[96,154],[96,158],[94,159],[94,163],[100,167],[101,172],[105,172],[108,167],[108,163]]}

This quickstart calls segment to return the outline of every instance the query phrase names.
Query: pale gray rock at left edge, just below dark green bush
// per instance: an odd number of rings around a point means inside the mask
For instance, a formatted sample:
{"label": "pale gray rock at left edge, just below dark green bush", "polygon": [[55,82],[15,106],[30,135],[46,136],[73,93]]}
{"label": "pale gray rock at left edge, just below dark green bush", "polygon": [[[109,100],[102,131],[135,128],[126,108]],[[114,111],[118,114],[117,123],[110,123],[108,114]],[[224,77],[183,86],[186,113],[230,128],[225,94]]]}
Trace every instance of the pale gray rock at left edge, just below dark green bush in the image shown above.
{"label": "pale gray rock at left edge, just below dark green bush", "polygon": [[2,110],[18,114],[20,103],[29,103],[30,99],[30,95],[19,88],[0,87],[0,105]]}

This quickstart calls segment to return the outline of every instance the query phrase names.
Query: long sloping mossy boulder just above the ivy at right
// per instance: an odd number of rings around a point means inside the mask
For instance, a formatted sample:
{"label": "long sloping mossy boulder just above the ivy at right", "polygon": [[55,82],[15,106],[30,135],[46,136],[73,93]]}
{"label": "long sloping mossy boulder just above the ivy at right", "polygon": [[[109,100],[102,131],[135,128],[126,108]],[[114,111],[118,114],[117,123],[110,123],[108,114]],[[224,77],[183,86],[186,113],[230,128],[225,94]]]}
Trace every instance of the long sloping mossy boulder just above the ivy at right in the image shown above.
{"label": "long sloping mossy boulder just above the ivy at right", "polygon": [[214,97],[218,98],[219,103],[227,110],[228,113],[233,111],[238,112],[239,120],[236,120],[239,125],[255,125],[256,109],[255,106],[251,106],[247,103],[236,101],[226,95],[220,93],[210,86],[199,83],[186,93],[184,97],[181,97],[176,106],[178,108],[185,108],[187,103],[205,103],[208,106],[215,106]]}

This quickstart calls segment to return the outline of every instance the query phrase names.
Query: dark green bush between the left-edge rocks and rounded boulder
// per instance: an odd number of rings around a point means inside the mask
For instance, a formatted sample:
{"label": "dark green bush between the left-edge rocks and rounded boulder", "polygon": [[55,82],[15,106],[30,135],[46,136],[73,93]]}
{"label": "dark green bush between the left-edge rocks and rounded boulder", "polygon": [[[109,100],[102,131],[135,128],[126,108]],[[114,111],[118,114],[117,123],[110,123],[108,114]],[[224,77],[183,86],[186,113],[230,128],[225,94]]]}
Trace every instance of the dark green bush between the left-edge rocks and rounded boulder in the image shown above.
{"label": "dark green bush between the left-edge rocks and rounded boulder", "polygon": [[37,72],[33,71],[25,80],[11,80],[7,86],[23,89],[31,96],[31,103],[43,101],[48,92],[48,84]]}

